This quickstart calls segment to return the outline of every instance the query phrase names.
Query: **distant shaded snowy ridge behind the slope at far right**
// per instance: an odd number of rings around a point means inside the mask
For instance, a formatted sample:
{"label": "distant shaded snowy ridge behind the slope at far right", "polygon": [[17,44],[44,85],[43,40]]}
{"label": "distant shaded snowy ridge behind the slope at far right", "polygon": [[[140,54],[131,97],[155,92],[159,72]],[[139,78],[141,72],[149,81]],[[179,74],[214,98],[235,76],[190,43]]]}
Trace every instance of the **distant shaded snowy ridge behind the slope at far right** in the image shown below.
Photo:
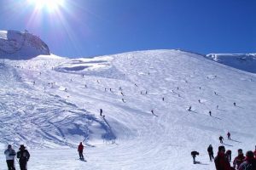
{"label": "distant shaded snowy ridge behind the slope at far right", "polygon": [[207,54],[207,58],[242,71],[256,73],[256,54]]}

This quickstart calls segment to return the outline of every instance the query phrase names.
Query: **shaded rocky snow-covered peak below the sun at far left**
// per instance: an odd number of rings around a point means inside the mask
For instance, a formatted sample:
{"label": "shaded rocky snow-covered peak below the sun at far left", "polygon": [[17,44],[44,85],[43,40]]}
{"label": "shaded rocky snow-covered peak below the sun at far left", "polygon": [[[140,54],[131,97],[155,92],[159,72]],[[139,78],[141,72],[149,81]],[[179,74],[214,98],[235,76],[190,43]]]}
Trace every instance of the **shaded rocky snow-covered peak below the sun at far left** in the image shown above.
{"label": "shaded rocky snow-covered peak below the sun at far left", "polygon": [[49,55],[49,48],[38,36],[28,31],[0,31],[0,58],[32,59],[40,54]]}

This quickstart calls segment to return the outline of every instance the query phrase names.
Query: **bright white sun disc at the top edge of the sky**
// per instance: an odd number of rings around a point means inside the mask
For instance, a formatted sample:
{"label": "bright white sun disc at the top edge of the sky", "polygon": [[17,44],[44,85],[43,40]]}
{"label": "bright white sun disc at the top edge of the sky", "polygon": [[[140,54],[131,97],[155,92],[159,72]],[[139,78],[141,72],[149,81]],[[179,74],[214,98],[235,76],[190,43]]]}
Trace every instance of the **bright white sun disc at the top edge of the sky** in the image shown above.
{"label": "bright white sun disc at the top edge of the sky", "polygon": [[63,5],[63,0],[29,0],[36,5],[36,8],[48,8],[49,10]]}

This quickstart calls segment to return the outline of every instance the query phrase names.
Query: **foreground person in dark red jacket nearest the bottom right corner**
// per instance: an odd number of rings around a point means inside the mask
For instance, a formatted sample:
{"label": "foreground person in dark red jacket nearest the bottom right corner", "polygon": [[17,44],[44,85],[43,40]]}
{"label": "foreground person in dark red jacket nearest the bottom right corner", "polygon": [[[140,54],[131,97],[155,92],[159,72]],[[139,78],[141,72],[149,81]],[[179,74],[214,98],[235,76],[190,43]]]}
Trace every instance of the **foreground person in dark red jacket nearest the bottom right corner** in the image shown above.
{"label": "foreground person in dark red jacket nearest the bottom right corner", "polygon": [[239,170],[255,170],[256,158],[253,157],[253,151],[247,151],[246,158],[241,163]]}

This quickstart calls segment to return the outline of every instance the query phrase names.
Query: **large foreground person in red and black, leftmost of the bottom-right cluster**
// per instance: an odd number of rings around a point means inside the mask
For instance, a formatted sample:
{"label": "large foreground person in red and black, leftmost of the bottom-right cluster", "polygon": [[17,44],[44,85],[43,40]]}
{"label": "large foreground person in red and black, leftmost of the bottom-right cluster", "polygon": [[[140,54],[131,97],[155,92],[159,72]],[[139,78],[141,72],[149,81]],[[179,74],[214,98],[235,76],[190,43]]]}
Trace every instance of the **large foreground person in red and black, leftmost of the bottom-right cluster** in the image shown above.
{"label": "large foreground person in red and black, leftmost of the bottom-right cluster", "polygon": [[231,170],[230,161],[225,156],[225,147],[218,146],[218,154],[214,158],[216,170]]}

